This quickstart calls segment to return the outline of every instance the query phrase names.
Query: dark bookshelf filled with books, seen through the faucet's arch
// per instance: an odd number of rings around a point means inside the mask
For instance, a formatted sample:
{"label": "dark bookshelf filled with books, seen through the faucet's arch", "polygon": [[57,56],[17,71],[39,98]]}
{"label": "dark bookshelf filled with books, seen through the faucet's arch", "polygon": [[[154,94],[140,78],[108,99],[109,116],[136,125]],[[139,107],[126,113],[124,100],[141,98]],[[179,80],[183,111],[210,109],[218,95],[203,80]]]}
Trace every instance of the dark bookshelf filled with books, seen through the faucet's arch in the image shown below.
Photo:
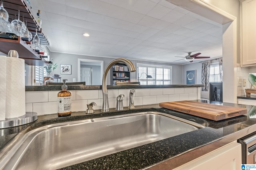
{"label": "dark bookshelf filled with books, seen through the faucet's arch", "polygon": [[116,82],[130,82],[130,72],[128,66],[124,63],[114,64],[110,70],[111,85],[116,85]]}

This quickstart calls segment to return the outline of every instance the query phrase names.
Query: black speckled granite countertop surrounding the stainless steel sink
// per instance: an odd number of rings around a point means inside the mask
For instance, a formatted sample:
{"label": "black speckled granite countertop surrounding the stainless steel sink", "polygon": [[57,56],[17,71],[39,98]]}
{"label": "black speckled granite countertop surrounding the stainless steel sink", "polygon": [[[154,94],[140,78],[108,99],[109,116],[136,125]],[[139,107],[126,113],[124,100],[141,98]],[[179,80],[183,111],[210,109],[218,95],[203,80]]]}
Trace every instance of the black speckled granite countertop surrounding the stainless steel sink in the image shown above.
{"label": "black speckled granite countertop surrounding the stainless steel sink", "polygon": [[[207,102],[196,100],[197,102]],[[246,115],[212,121],[200,117],[172,111],[164,108],[142,108],[124,111],[113,111],[108,113],[96,113],[85,115],[85,112],[72,113],[70,117],[57,117],[57,114],[38,116],[38,120],[29,125],[1,129],[0,148],[4,148],[12,141],[13,137],[20,131],[24,133],[24,127],[35,129],[36,127],[72,120],[105,117],[111,115],[136,113],[141,111],[160,111],[170,115],[182,117],[184,119],[196,121],[207,125],[207,127],[184,133],[182,135],[170,137],[154,143],[149,143],[132,149],[124,150],[72,166],[62,168],[71,169],[159,169],[166,166],[168,169],[178,167],[190,160],[202,156],[212,150],[218,149],[230,142],[236,141],[250,133],[256,131],[256,116],[254,115],[256,106],[237,105],[221,102],[210,102],[212,104],[247,108]],[[25,128],[28,129],[28,128]],[[26,131],[25,131],[26,132]]]}

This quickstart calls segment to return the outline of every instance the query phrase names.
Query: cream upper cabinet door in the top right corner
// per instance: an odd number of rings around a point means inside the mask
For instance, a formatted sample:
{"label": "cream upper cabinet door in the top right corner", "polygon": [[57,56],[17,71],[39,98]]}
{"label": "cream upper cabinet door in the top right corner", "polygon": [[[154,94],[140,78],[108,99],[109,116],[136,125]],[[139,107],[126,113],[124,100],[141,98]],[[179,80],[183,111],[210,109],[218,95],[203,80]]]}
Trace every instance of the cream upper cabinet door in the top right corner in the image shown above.
{"label": "cream upper cabinet door in the top right corner", "polygon": [[256,0],[242,2],[242,65],[256,64]]}

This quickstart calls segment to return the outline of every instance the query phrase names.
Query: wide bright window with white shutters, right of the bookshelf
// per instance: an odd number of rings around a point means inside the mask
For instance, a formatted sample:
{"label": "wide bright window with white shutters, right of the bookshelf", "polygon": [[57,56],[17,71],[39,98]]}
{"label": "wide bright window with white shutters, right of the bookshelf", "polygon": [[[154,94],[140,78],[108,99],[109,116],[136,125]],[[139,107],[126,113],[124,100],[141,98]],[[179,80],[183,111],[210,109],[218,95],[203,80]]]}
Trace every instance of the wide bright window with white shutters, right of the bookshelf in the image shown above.
{"label": "wide bright window with white shutters, right of the bookshelf", "polygon": [[[137,79],[141,85],[172,84],[172,66],[137,63]],[[152,78],[146,78],[147,75]]]}

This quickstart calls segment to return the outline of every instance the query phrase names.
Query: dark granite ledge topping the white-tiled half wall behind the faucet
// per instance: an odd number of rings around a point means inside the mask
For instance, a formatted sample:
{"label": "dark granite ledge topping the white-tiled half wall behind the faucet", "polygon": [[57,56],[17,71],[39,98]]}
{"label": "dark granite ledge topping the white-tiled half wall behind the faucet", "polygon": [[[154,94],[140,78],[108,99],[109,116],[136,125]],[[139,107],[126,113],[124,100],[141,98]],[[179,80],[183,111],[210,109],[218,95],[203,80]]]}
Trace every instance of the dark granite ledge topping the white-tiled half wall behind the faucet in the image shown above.
{"label": "dark granite ledge topping the white-tiled half wall behind the faucet", "polygon": [[[108,85],[108,89],[130,89],[130,88],[184,88],[184,87],[203,87],[202,84],[173,84],[173,85]],[[101,86],[75,85],[68,86],[68,90],[100,90]],[[61,90],[61,86],[25,86],[26,91],[49,91]]]}

